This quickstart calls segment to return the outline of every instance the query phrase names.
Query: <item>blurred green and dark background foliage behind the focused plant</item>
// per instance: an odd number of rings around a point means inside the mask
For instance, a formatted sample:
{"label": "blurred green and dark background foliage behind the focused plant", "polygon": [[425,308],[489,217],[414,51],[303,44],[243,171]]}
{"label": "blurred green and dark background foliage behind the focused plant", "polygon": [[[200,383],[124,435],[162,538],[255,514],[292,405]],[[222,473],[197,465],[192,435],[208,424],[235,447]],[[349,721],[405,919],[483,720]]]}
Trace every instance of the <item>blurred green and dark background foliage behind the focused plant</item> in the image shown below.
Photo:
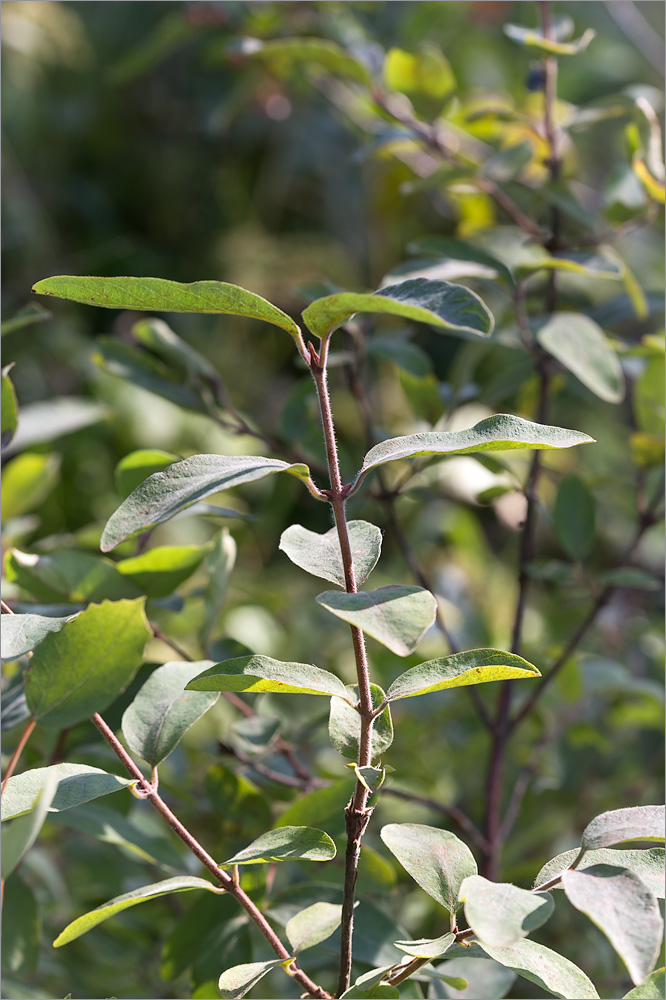
{"label": "blurred green and dark background foliage behind the focused plant", "polygon": [[[574,232],[581,227],[596,232],[645,211],[647,195],[628,167],[626,125],[636,96],[647,97],[662,112],[664,10],[661,4],[618,2],[560,3],[556,10],[573,18],[575,37],[588,27],[597,31],[583,56],[562,60],[558,106],[562,121],[570,123],[578,114],[581,125],[573,122],[564,149],[564,173],[575,195],[567,225]],[[15,362],[11,376],[21,407],[3,495],[6,547],[38,554],[61,548],[96,553],[103,523],[122,495],[116,466],[136,449],[185,456],[262,453],[266,447],[247,435],[230,434],[205,412],[196,412],[196,404],[185,410],[149,392],[146,386],[155,386],[156,378],[162,379],[163,390],[166,378],[167,395],[182,401],[185,380],[169,375],[159,358],[152,357],[143,381],[136,371],[134,384],[118,379],[116,374],[128,369],[117,345],[131,345],[137,317],[61,302],[48,303],[49,312],[39,314],[30,296],[36,280],[63,273],[215,278],[244,285],[297,316],[313,287],[317,294],[322,283],[378,287],[387,272],[409,258],[410,246],[426,236],[464,237],[497,250],[515,234],[493,202],[473,187],[452,185],[450,177],[425,183],[428,164],[419,171],[428,154],[387,121],[378,126],[375,116],[368,125],[367,103],[354,95],[338,66],[330,73],[313,72],[298,62],[251,58],[242,38],[330,39],[375,65],[390,49],[420,52],[425,83],[410,83],[414,67],[400,55],[385,74],[413,98],[426,120],[442,114],[454,130],[464,127],[498,154],[522,143],[518,166],[499,159],[497,179],[511,185],[522,171],[525,211],[545,211],[533,194],[544,154],[529,126],[530,114],[540,108],[541,95],[534,89],[538,61],[502,32],[506,21],[536,23],[532,4],[5,0],[2,18],[3,315],[5,320],[23,315],[25,321],[9,323],[3,340],[3,364]],[[432,86],[423,69],[429,59]],[[502,108],[512,113],[503,115]],[[597,120],[592,112],[600,108],[616,110]],[[621,351],[630,391],[624,402],[613,405],[571,375],[563,372],[556,380],[549,421],[586,431],[598,444],[547,461],[523,648],[537,665],[554,660],[602,585],[600,574],[617,565],[633,537],[637,481],[648,493],[662,488],[650,437],[663,428],[659,222],[628,232],[616,249],[646,293],[647,309],[640,318],[615,282],[561,278],[569,302],[597,318]],[[536,381],[529,358],[511,346],[515,323],[506,298],[483,276],[469,283],[498,319],[490,345],[426,328],[403,331],[391,323],[382,326],[374,343],[369,341],[364,377],[378,433],[408,433],[437,421],[449,429],[468,426],[491,411],[535,417]],[[33,315],[21,314],[26,307]],[[310,379],[289,338],[232,317],[172,317],[171,325],[214,364],[234,408],[252,426],[281,437],[313,464],[322,462]],[[349,475],[366,441],[349,379],[353,344],[339,335],[337,346],[334,411]],[[398,500],[413,551],[427,568],[463,648],[510,643],[524,508],[516,493],[494,503],[479,504],[477,498],[507,476],[522,482],[527,467],[521,453],[501,466],[471,458],[441,463],[425,468],[417,488]],[[562,530],[566,513],[558,528],[556,498],[568,476],[578,477],[585,493],[582,501],[579,495],[573,501],[576,512],[581,504],[588,511],[587,527],[581,529],[584,552]],[[323,482],[321,474],[318,478]],[[326,530],[323,506],[311,504],[296,482],[274,477],[222,502],[251,517],[228,522],[238,555],[210,655],[221,658],[224,643],[235,640],[277,658],[317,662],[351,680],[346,630],[314,603],[321,586],[300,574],[277,548],[288,524]],[[566,504],[566,494],[560,503]],[[358,499],[350,516],[387,529],[373,586],[413,582],[381,500],[371,494]],[[155,540],[204,546],[217,527],[210,519],[183,517],[160,527]],[[133,551],[134,543],[126,543],[119,554]],[[583,554],[586,558],[579,559]],[[622,585],[616,590],[512,743],[507,798],[517,781],[529,779],[529,787],[504,852],[502,877],[507,880],[529,886],[541,865],[575,845],[589,819],[604,809],[661,799],[661,563],[656,526],[645,533],[632,559],[640,570],[633,580],[638,589]],[[151,621],[195,658],[202,655],[196,636],[205,614],[205,566],[176,595],[151,604]],[[5,586],[5,599],[17,608],[27,610],[35,599],[16,575]],[[71,603],[71,594],[66,599]],[[418,657],[404,664],[373,643],[374,676],[388,683],[405,666],[445,652],[435,630]],[[150,664],[173,655],[159,641],[149,648]],[[142,668],[132,690],[149,670]],[[10,688],[11,682],[10,670]],[[130,697],[126,693],[123,704],[114,707],[110,724],[118,724]],[[495,692],[484,691],[482,697],[492,704]],[[344,780],[326,736],[325,712],[311,701],[289,699],[285,705],[279,698],[257,698],[255,707],[265,722],[261,732],[239,730],[237,713],[224,703],[169,758],[162,784],[185,803],[183,819],[208,845],[223,840],[229,850],[243,846],[296,794],[252,765],[253,741],[258,741],[262,760],[273,769],[285,766],[283,758],[270,754],[267,733],[275,730],[270,720],[279,720],[280,732],[299,748],[317,778]],[[6,698],[6,704],[11,707],[11,700]],[[11,713],[5,721],[11,752],[20,729]],[[480,822],[489,741],[464,692],[410,700],[396,709],[395,723],[397,737],[387,757],[396,768],[393,788],[460,804]],[[250,755],[249,763],[239,764],[239,751],[246,759]],[[24,763],[37,766],[63,752],[82,762],[110,762],[86,724],[70,731],[60,747],[46,732],[36,733]],[[336,785],[335,790],[332,807],[324,808],[320,824],[313,825],[340,835],[348,788]],[[126,814],[167,868],[180,870],[187,863],[140,803],[114,796],[104,808],[116,817]],[[372,928],[378,942],[367,960],[382,964],[381,943],[393,940],[392,925],[387,931],[382,921],[387,913],[395,917],[396,907],[399,923],[415,937],[445,928],[438,925],[431,901],[406,883],[402,895],[387,903],[386,893],[397,893],[404,873],[381,845],[379,828],[383,822],[446,825],[447,820],[427,805],[391,795],[381,798],[377,813],[359,889],[368,907],[366,931],[371,936]],[[65,816],[67,823],[63,818],[47,824],[45,838],[22,868],[23,881],[12,889],[20,896],[31,887],[45,925],[37,927],[29,899],[19,900],[17,912],[30,925],[33,940],[42,943],[18,957],[10,950],[11,996],[217,995],[207,992],[206,984],[219,975],[225,949],[235,963],[249,958],[242,957],[248,954],[246,928],[236,937],[229,936],[228,927],[211,928],[216,900],[198,901],[190,910],[179,897],[167,897],[165,905],[146,904],[61,951],[52,950],[50,942],[67,920],[145,881],[145,858],[107,842],[99,832],[103,817],[95,839],[83,818],[76,829],[70,814]],[[330,868],[325,880],[339,884],[342,869],[331,874]],[[271,875],[268,885],[254,870],[246,876],[248,888],[259,898],[268,894],[278,915],[280,906],[290,915],[290,899],[310,901],[315,889],[309,880],[324,878],[307,866],[300,875],[289,872],[296,884],[286,884],[282,872],[274,882]],[[329,891],[330,885],[312,899],[327,898]],[[190,935],[186,943],[200,944],[204,931],[207,935],[193,966],[187,948],[174,943],[184,927]],[[617,996],[626,988],[605,938],[579,914],[557,912],[537,938],[585,968],[602,996]],[[326,946],[320,950],[325,964]],[[310,954],[316,958],[314,951]],[[262,956],[261,946],[254,955]],[[162,982],[160,964],[165,977],[174,979],[174,992]],[[317,961],[307,968],[316,976]],[[282,977],[276,988],[285,987],[289,983]],[[262,984],[256,995],[264,989]],[[545,995],[522,981],[513,990],[515,997]]]}

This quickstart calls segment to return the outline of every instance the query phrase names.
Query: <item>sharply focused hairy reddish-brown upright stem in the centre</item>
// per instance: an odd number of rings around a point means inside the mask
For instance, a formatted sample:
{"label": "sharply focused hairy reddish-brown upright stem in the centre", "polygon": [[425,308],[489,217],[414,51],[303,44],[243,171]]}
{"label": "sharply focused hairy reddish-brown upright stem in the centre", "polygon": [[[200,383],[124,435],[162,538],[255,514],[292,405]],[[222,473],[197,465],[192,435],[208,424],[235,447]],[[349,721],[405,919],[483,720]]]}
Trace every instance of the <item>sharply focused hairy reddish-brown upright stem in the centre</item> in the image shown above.
{"label": "sharply focused hairy reddish-brown upright stem in the centre", "polygon": [[[340,477],[338,448],[335,440],[335,427],[333,424],[331,401],[326,379],[327,356],[327,339],[322,340],[320,354],[317,354],[313,346],[310,345],[310,371],[312,372],[312,377],[314,378],[315,386],[317,388],[319,412],[321,414],[324,440],[326,442],[326,456],[328,459],[328,470],[331,481],[331,489],[328,491],[327,495],[329,497],[331,507],[333,508],[335,526],[340,542],[342,565],[345,573],[345,586],[348,594],[355,594],[356,579],[354,576],[354,563],[352,559],[351,544],[349,541],[349,531],[347,529],[347,517],[345,514],[346,491],[342,485],[342,479]],[[368,657],[365,649],[365,637],[363,632],[354,625],[351,625],[350,628],[352,643],[354,646],[354,658],[356,660],[356,676],[358,680],[358,712],[361,717],[361,739],[359,744],[358,766],[367,767],[372,763],[372,723],[374,711],[372,693],[370,690],[370,671],[368,668]],[[358,863],[361,857],[361,842],[370,820],[371,812],[372,810],[368,809],[368,790],[360,781],[357,781],[354,794],[345,809],[347,849],[345,852],[345,881],[342,898],[342,923],[340,930],[341,943],[340,970],[337,989],[338,996],[349,989],[349,983],[351,980],[356,878],[358,875]]]}

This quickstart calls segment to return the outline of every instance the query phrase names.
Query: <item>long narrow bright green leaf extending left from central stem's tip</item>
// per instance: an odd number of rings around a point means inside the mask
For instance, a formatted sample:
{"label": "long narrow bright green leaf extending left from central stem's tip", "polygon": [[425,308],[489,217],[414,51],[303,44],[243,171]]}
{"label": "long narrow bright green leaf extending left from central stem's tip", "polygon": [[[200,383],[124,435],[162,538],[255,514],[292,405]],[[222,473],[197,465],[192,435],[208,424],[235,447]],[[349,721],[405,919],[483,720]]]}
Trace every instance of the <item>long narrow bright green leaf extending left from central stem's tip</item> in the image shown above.
{"label": "long narrow bright green leaf extending left from central stem's tip", "polygon": [[298,338],[293,319],[254,292],[224,281],[193,281],[182,284],[164,278],[96,278],[58,275],[33,285],[37,295],[140,312],[224,313],[261,319]]}

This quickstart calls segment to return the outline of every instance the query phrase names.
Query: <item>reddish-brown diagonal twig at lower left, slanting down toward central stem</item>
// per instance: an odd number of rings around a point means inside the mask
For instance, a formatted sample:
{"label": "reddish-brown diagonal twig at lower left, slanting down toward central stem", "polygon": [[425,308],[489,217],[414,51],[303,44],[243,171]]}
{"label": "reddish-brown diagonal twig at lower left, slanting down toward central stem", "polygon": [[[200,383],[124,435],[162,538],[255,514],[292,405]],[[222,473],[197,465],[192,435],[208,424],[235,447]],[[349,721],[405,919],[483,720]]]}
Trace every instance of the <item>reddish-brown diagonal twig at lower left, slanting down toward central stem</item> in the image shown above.
{"label": "reddish-brown diagonal twig at lower left, slanting down toward central stem", "polygon": [[[190,831],[183,826],[177,816],[171,812],[166,802],[157,791],[155,784],[152,781],[149,781],[148,778],[142,774],[140,769],[123,747],[120,740],[116,737],[113,730],[107,726],[104,719],[98,713],[95,713],[95,715],[92,716],[92,721],[109,746],[116,753],[117,757],[122,761],[125,768],[134,778],[136,778],[137,791],[140,796],[147,799],[153,808],[160,813],[174,833],[180,837],[192,854],[194,854],[202,865],[208,869],[215,881],[226,892],[228,892],[230,896],[233,896],[234,899],[240,903],[247,915],[254,922],[255,926],[261,931],[265,939],[268,941],[278,958],[285,962],[293,958],[293,952],[287,951],[273,928],[264,917],[263,913],[261,913],[261,911],[257,908],[256,904],[252,902],[250,897],[245,892],[243,892],[240,885],[234,881],[233,877],[227,875],[227,873],[218,866],[208,851],[201,846],[196,837],[194,837]],[[289,965],[289,975],[292,976],[292,978],[294,978],[303,987],[303,989],[306,990],[308,996],[316,997],[318,1000],[327,1000],[327,998],[330,1000],[330,993],[322,990],[320,986],[318,986],[305,972],[303,972],[302,969],[299,968],[295,961],[291,962]]]}

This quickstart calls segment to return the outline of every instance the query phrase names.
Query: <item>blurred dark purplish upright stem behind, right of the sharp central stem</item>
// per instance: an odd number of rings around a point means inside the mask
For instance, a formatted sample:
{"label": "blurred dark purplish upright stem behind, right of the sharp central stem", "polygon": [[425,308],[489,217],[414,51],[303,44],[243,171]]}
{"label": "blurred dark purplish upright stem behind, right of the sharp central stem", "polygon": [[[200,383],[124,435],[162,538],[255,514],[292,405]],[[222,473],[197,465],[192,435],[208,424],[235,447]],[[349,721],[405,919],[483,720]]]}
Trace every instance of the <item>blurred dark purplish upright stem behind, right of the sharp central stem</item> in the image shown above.
{"label": "blurred dark purplish upright stem behind, right of the sharp central stem", "polygon": [[[539,0],[541,12],[542,31],[546,38],[550,38],[550,2],[549,0]],[[545,79],[544,79],[544,112],[543,130],[548,141],[549,156],[547,160],[548,172],[551,181],[556,181],[560,173],[560,157],[557,141],[557,127],[555,125],[555,103],[557,100],[557,58],[556,56],[546,56]],[[557,209],[553,210],[551,217],[551,231],[544,246],[551,253],[555,252],[560,242],[560,216]],[[557,306],[557,286],[555,271],[551,271],[548,279],[546,292],[546,311],[553,313]],[[522,310],[524,303],[520,302]],[[517,300],[518,308],[518,300]],[[520,316],[519,316],[520,321]],[[548,411],[548,390],[549,378],[543,360],[537,355],[537,371],[539,374],[539,405],[537,420],[545,423]],[[527,499],[527,510],[525,514],[525,524],[520,542],[518,557],[518,599],[514,615],[514,624],[511,636],[511,651],[519,653],[522,643],[523,621],[527,606],[527,593],[530,578],[528,574],[528,564],[534,555],[534,535],[537,509],[537,486],[541,473],[541,455],[535,451],[530,466],[530,471],[525,488]],[[489,853],[486,858],[485,874],[492,881],[499,878],[500,857],[502,852],[502,792],[504,787],[504,768],[507,754],[507,744],[511,734],[511,682],[505,682],[500,690],[497,713],[495,716],[494,733],[491,743],[490,760],[488,765],[488,775],[486,782],[486,839],[489,845]]]}

